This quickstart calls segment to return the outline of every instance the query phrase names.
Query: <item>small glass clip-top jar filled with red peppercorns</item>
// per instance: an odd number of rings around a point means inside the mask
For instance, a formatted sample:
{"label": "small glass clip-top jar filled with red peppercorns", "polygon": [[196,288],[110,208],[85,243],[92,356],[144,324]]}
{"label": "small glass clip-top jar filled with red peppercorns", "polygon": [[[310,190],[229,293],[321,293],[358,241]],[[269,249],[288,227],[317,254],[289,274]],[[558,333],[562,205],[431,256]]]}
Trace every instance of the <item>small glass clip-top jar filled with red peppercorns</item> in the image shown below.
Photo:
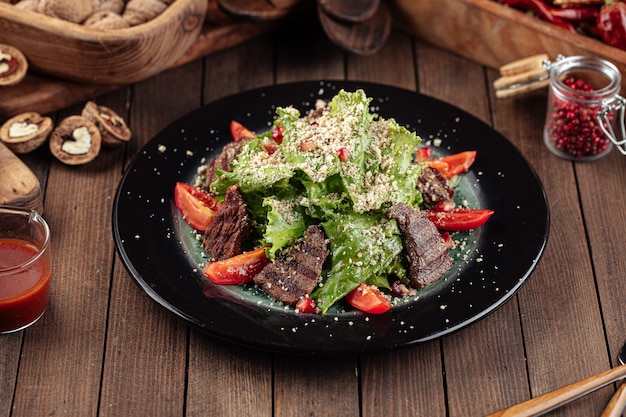
{"label": "small glass clip-top jar filled with red peppercorns", "polygon": [[[574,161],[601,158],[614,144],[626,154],[624,99],[619,95],[622,77],[617,67],[585,56],[559,57],[544,67],[550,76],[546,146]],[[616,138],[616,127],[621,140]]]}

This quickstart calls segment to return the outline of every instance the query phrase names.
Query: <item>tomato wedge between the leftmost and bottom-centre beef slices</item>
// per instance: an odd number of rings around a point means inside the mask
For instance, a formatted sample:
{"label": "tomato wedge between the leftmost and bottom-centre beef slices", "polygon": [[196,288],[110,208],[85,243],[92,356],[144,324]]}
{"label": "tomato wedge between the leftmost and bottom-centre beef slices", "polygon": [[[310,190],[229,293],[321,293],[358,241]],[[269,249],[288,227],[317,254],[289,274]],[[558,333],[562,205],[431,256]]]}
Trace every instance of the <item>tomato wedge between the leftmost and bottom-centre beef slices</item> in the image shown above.
{"label": "tomato wedge between the leftmost and bottom-centre beef slices", "polygon": [[216,284],[244,284],[252,281],[267,262],[265,248],[260,247],[222,261],[209,262],[203,272]]}

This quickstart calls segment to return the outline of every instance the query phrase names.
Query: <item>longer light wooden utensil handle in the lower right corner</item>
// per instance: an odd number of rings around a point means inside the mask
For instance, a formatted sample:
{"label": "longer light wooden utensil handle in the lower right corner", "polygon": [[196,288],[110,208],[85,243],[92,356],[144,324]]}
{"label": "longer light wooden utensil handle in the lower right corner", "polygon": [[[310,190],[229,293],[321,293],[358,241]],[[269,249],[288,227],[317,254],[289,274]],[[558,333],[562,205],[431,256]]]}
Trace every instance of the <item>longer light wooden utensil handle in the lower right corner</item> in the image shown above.
{"label": "longer light wooden utensil handle in the lower right corner", "polygon": [[528,401],[505,408],[487,417],[531,417],[547,413],[563,404],[573,401],[611,382],[626,376],[626,365],[620,365],[608,371],[591,376],[562,388],[531,398]]}

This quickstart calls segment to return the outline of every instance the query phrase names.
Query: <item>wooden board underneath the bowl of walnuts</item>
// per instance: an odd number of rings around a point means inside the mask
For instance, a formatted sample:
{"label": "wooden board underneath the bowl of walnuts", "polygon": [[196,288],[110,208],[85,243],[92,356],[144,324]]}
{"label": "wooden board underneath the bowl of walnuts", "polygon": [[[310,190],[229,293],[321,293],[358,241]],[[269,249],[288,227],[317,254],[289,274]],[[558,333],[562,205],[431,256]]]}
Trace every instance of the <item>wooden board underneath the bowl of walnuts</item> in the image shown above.
{"label": "wooden board underneath the bowl of walnuts", "polygon": [[[196,41],[168,69],[232,47],[278,27],[277,22],[205,23]],[[24,81],[0,87],[0,122],[27,111],[50,113],[116,90],[123,84],[81,84],[30,71]]]}

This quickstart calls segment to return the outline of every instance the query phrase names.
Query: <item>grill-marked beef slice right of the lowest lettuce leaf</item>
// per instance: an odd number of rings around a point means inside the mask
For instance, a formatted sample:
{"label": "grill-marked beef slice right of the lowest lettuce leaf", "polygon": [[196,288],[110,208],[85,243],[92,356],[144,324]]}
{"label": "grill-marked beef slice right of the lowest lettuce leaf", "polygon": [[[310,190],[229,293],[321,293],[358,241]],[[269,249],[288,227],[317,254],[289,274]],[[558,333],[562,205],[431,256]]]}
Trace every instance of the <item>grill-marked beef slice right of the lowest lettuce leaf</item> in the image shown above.
{"label": "grill-marked beef slice right of the lowest lettuce leaf", "polygon": [[398,203],[389,210],[402,233],[411,284],[423,288],[437,281],[452,266],[448,247],[426,213]]}

